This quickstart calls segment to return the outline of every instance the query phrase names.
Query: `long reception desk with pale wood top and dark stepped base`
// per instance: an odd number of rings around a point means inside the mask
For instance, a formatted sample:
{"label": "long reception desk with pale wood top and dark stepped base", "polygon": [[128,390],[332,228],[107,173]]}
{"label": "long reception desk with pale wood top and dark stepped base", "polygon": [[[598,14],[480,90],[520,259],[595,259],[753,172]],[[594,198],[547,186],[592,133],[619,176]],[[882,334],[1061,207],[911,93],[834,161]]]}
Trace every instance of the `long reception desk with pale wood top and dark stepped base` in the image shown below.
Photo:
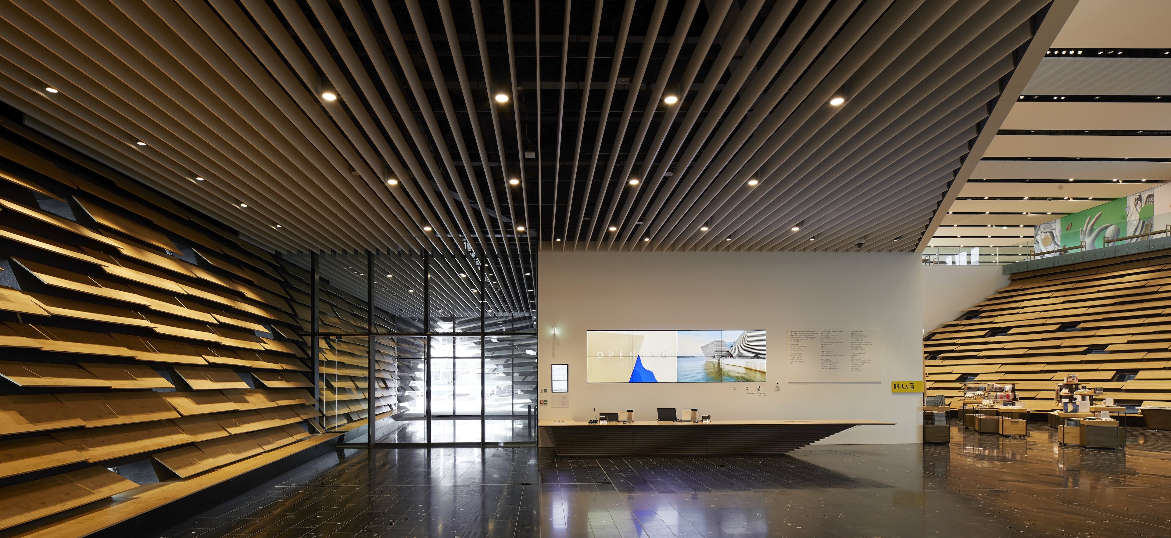
{"label": "long reception desk with pale wood top and dark stepped base", "polygon": [[557,456],[778,455],[855,425],[893,422],[854,420],[588,422],[541,420]]}

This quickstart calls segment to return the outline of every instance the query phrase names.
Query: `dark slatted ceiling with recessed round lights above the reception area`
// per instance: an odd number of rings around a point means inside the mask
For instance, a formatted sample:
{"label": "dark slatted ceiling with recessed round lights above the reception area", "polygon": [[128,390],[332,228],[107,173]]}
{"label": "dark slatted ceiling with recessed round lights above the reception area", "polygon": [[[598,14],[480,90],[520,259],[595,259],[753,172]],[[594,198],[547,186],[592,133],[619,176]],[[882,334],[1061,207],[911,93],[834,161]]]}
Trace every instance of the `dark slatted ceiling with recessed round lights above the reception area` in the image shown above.
{"label": "dark slatted ceiling with recessed round lights above the reception area", "polygon": [[0,101],[278,250],[911,251],[1047,4],[0,0]]}

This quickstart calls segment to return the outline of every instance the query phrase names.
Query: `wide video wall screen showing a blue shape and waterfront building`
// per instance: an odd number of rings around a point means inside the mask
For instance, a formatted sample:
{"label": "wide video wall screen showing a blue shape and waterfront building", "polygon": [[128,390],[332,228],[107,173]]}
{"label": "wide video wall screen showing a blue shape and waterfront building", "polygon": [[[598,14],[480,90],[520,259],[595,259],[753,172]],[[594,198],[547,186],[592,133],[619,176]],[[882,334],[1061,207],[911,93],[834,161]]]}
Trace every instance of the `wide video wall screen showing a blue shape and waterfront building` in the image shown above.
{"label": "wide video wall screen showing a blue shape and waterfront building", "polygon": [[587,331],[589,383],[766,381],[765,331]]}

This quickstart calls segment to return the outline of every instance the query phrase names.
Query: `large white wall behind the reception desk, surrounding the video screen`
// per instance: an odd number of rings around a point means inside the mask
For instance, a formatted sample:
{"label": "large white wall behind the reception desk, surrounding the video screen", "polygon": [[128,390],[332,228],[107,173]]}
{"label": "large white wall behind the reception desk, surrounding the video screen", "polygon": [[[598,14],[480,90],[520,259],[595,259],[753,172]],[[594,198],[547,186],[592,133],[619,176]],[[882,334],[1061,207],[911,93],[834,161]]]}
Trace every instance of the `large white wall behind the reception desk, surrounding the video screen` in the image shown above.
{"label": "large white wall behind the reception desk, surrounding the video screen", "polygon": [[[546,391],[549,365],[569,365],[569,407],[541,406],[541,418],[584,421],[594,408],[632,408],[636,420],[655,420],[658,407],[697,407],[717,420],[897,422],[857,427],[826,442],[920,442],[922,394],[892,394],[890,387],[923,379],[916,254],[546,250],[537,263],[541,400],[554,396]],[[586,383],[589,329],[747,328],[767,331],[766,383]],[[826,328],[881,329],[882,381],[788,383],[786,331]],[[754,394],[758,386],[763,396]]]}

